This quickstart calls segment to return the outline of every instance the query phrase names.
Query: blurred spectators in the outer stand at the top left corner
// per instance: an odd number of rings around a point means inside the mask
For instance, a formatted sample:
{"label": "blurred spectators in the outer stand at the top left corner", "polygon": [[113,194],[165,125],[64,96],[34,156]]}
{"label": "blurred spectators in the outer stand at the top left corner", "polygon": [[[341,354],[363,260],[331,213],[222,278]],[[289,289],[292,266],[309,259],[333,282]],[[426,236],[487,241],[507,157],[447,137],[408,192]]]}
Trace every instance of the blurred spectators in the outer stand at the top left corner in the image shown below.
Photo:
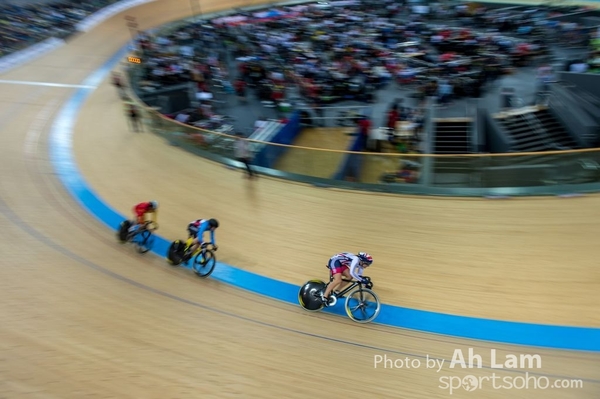
{"label": "blurred spectators in the outer stand at the top left corner", "polygon": [[0,4],[0,57],[51,37],[66,38],[75,25],[119,0],[57,0],[26,5]]}

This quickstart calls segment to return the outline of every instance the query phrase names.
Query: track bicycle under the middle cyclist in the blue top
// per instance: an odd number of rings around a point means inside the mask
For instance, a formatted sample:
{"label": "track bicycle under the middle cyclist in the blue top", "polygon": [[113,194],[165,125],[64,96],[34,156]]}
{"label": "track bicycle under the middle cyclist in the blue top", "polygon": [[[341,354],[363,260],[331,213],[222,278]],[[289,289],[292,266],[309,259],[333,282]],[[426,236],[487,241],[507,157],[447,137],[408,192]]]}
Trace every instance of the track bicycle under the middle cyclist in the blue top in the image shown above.
{"label": "track bicycle under the middle cyclist in the blue top", "polygon": [[182,263],[188,264],[192,260],[194,273],[198,277],[206,278],[210,276],[217,264],[217,257],[215,255],[217,247],[211,243],[203,243],[192,252],[193,241],[193,238],[188,238],[187,241],[173,241],[167,250],[167,260],[173,266],[178,266]]}

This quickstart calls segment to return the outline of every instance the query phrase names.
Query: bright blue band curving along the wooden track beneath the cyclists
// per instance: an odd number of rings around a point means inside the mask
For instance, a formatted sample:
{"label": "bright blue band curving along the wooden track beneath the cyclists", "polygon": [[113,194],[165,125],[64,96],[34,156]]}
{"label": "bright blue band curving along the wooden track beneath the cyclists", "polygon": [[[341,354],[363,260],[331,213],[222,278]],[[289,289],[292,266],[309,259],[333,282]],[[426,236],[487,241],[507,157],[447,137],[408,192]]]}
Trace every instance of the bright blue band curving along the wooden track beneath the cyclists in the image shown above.
{"label": "bright blue band curving along the wooden track beneath the cyclists", "polygon": [[[97,87],[127,52],[128,46],[117,52],[82,83],[85,87],[78,89],[61,109],[52,126],[50,137],[51,161],[68,192],[84,209],[115,231],[126,216],[117,213],[88,186],[77,168],[72,151],[72,139],[77,114],[94,91],[90,87]],[[162,257],[168,245],[169,241],[158,236],[152,251]],[[217,263],[212,277],[247,291],[298,304],[299,287],[290,283],[250,273],[220,262]],[[326,311],[339,315],[345,314],[341,303]],[[598,328],[489,320],[387,304],[382,305],[377,323],[475,340],[600,352],[600,329]]]}

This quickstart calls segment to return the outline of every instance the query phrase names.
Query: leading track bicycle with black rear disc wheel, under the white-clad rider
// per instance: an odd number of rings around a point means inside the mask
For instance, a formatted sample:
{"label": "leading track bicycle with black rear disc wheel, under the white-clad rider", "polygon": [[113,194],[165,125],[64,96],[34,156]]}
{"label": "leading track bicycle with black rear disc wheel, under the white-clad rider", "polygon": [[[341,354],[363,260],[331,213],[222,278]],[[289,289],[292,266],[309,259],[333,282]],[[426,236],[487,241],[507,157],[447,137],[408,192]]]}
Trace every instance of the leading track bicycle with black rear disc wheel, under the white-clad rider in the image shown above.
{"label": "leading track bicycle with black rear disc wheel, under the white-clad rider", "polygon": [[[328,266],[326,266],[329,269]],[[332,292],[329,296],[327,307],[333,307],[338,299],[346,298],[344,308],[348,317],[357,323],[369,323],[379,315],[381,302],[375,292],[373,283],[369,277],[363,277],[364,282],[342,278],[342,282],[351,283],[340,292]],[[317,312],[325,307],[321,300],[321,294],[333,281],[331,269],[329,269],[329,283],[321,280],[307,281],[298,292],[298,302],[305,310]]]}

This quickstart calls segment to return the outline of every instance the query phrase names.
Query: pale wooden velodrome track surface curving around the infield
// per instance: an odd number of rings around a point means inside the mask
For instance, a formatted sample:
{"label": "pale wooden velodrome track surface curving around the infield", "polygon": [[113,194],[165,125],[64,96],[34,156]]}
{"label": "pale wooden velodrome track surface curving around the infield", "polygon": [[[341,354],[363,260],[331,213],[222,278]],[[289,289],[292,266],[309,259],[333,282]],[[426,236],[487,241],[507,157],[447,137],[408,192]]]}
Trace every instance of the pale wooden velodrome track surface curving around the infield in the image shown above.
{"label": "pale wooden velodrome track surface curving around the infield", "polygon": [[[203,10],[236,2],[205,2]],[[243,4],[243,5],[248,5]],[[190,13],[187,0],[129,12],[142,29]],[[357,325],[308,314],[163,259],[141,257],[84,211],[48,152],[58,110],[129,38],[123,15],[0,76],[0,398],[438,398],[440,377],[547,376],[582,388],[456,388],[452,397],[598,398],[600,356]],[[218,217],[220,260],[296,285],[326,259],[366,249],[386,303],[436,312],[600,327],[599,198],[495,202],[322,190],[226,169],[128,131],[108,82],[78,115],[78,167],[122,214],[161,201],[160,234]],[[484,368],[451,369],[474,348]],[[490,369],[490,350],[539,354],[542,368]],[[413,367],[374,367],[377,356]],[[440,371],[427,356],[446,359]],[[420,361],[420,365],[415,367]],[[388,364],[389,365],[389,364]],[[400,367],[404,366],[404,367]]]}

